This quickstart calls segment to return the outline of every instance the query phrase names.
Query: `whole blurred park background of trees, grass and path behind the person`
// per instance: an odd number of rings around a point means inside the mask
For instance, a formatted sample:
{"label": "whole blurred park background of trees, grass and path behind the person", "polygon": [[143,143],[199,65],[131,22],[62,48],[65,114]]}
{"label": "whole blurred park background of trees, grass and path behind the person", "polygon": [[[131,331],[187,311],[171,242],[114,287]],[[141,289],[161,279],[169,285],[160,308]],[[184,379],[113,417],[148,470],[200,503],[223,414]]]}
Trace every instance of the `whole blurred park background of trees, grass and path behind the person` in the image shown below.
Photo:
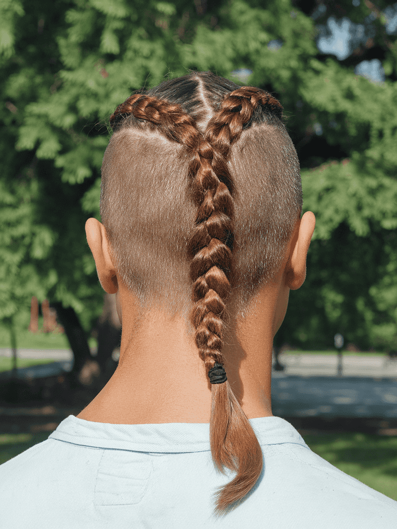
{"label": "whole blurred park background of trees, grass and path behind the person", "polygon": [[212,70],[272,92],[317,217],[273,413],[397,499],[397,3],[0,0],[0,462],[106,384],[120,323],[85,239],[107,120]]}

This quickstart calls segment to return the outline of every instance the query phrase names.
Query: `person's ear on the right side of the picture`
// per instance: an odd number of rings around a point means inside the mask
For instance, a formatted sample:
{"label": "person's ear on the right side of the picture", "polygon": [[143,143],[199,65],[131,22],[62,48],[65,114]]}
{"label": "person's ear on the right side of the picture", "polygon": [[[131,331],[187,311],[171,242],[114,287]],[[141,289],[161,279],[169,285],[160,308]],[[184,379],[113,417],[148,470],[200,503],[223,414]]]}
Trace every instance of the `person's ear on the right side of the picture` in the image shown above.
{"label": "person's ear on the right side of the picture", "polygon": [[297,290],[303,285],[306,278],[306,256],[308,254],[310,241],[315,226],[315,217],[311,211],[306,212],[295,230],[290,259],[286,266],[287,286],[291,290]]}

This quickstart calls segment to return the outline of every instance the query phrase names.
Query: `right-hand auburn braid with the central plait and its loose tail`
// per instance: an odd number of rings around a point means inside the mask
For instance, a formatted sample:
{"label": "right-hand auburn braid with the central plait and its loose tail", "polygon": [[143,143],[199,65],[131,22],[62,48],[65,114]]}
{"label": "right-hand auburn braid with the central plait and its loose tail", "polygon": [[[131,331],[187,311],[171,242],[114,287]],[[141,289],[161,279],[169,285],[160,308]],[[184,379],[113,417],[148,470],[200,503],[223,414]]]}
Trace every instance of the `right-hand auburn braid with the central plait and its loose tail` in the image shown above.
{"label": "right-hand auburn braid with the central plait and its loose tail", "polygon": [[[233,250],[233,184],[228,168],[231,145],[250,123],[257,109],[282,117],[281,104],[257,88],[242,87],[223,98],[207,124],[204,142],[197,149],[194,180],[198,202],[196,226],[189,249],[195,305],[192,322],[200,358],[208,373],[215,363],[223,366],[225,303],[231,291]],[[208,147],[210,145],[210,148]],[[211,452],[215,466],[237,476],[217,494],[216,512],[225,512],[247,495],[263,468],[257,437],[226,380],[212,385],[210,419]],[[241,435],[245,439],[241,439]]]}

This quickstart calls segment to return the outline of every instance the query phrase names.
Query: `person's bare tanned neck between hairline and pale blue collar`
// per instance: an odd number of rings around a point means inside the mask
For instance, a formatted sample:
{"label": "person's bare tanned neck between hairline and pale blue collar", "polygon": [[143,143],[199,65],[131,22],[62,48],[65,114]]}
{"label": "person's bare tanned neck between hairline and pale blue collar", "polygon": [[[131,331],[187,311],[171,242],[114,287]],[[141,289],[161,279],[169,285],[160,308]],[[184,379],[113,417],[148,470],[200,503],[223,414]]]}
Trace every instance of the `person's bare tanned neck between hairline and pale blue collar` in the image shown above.
{"label": "person's bare tanned neck between hairline and pale blue collar", "polygon": [[[78,417],[113,424],[209,423],[211,383],[185,318],[152,309],[137,326],[130,294],[121,291],[120,297],[123,331],[119,366]],[[253,302],[254,315],[242,318],[225,336],[224,368],[248,418],[272,415],[277,298],[277,292],[270,293],[267,288],[266,295],[258,295]]]}

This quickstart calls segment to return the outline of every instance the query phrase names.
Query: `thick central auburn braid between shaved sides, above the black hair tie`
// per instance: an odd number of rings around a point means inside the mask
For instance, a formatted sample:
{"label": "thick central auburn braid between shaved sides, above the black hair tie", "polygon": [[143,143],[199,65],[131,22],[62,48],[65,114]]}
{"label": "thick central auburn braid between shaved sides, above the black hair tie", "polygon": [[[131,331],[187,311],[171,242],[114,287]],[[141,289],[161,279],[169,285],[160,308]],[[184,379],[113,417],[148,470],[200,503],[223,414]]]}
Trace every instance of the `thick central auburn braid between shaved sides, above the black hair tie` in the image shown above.
{"label": "thick central auburn braid between shaved sides, above the black hair tie", "polygon": [[193,280],[192,323],[196,329],[198,354],[206,373],[215,363],[223,365],[223,318],[230,293],[233,249],[233,199],[229,171],[218,174],[212,168],[216,156],[203,139],[191,163],[193,193],[198,206],[195,229],[189,243]]}

